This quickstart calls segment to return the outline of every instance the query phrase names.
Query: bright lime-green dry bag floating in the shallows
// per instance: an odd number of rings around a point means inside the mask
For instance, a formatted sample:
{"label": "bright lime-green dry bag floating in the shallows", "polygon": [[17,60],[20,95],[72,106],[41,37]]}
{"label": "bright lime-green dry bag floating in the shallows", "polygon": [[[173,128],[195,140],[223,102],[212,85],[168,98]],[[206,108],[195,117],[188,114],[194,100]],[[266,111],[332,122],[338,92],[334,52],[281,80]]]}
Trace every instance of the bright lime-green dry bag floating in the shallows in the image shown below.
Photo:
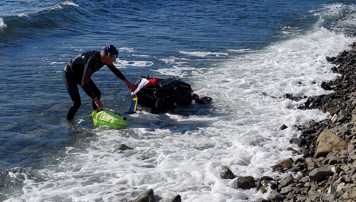
{"label": "bright lime-green dry bag floating in the shallows", "polygon": [[94,124],[97,126],[110,126],[117,129],[127,126],[127,120],[125,117],[108,110],[95,110],[91,113],[91,118],[93,118]]}

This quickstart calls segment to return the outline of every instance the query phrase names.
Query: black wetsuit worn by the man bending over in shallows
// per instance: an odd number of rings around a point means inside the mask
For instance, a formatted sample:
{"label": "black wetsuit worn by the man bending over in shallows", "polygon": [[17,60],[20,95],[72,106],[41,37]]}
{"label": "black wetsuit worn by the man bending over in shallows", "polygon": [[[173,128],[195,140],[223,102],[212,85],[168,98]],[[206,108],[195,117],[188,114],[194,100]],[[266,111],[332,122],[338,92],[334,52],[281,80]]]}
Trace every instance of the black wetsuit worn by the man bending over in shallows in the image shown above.
{"label": "black wetsuit worn by the man bending over in shallows", "polygon": [[[67,113],[68,120],[74,118],[75,113],[77,113],[80,105],[82,105],[77,84],[83,88],[85,93],[87,93],[91,99],[98,98],[100,100],[101,92],[90,77],[104,65],[106,65],[118,78],[125,81],[125,76],[116,69],[113,64],[108,65],[101,61],[99,51],[92,50],[81,53],[73,60],[70,60],[68,65],[64,68],[63,80],[66,84],[69,96],[72,99],[72,107],[69,108]],[[98,109],[94,101],[93,109]]]}

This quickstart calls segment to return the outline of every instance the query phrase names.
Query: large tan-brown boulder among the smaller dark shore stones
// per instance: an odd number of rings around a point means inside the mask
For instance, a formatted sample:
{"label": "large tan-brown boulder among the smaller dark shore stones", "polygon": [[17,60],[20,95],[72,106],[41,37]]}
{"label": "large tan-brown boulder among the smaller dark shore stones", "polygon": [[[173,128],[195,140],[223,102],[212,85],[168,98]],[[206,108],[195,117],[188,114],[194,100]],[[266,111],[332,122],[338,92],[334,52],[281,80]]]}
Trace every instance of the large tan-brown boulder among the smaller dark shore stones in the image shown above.
{"label": "large tan-brown boulder among the smaller dark shore stones", "polygon": [[323,130],[320,133],[318,140],[316,140],[316,151],[314,158],[326,157],[330,152],[335,149],[346,149],[347,142],[336,136],[329,129]]}

